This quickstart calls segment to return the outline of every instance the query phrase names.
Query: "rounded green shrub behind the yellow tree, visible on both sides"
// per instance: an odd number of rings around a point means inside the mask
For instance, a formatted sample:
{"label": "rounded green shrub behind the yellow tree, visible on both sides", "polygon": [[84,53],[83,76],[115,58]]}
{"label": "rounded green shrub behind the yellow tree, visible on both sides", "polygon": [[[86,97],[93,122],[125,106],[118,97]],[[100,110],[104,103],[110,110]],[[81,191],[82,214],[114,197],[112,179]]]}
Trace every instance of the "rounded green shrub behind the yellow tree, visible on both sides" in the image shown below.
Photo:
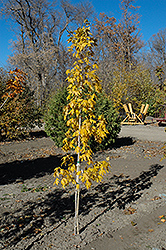
{"label": "rounded green shrub behind the yellow tree, visible on both sides", "polygon": [[[67,131],[66,121],[64,121],[63,109],[67,105],[67,89],[57,91],[57,93],[50,99],[48,108],[45,113],[45,131],[48,136],[55,142],[57,147],[63,146],[63,139]],[[93,151],[99,149],[106,149],[115,142],[115,138],[120,132],[120,119],[118,117],[112,102],[105,94],[99,94],[96,102],[94,114],[96,117],[103,114],[107,125],[106,128],[109,132],[107,137],[101,144],[95,142],[91,138],[89,145]]]}

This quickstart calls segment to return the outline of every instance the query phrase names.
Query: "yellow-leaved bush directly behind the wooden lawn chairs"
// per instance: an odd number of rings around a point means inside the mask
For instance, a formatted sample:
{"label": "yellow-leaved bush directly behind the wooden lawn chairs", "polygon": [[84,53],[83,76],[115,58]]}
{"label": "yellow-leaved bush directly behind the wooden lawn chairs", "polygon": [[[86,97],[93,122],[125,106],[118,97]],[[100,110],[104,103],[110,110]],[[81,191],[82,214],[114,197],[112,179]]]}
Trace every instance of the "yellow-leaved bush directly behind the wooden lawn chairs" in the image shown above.
{"label": "yellow-leaved bush directly behind the wooden lawn chairs", "polygon": [[123,108],[124,103],[131,103],[133,109],[139,112],[142,103],[148,103],[154,94],[154,86],[150,72],[143,65],[132,66],[128,70],[119,66],[113,72],[111,98],[117,110]]}

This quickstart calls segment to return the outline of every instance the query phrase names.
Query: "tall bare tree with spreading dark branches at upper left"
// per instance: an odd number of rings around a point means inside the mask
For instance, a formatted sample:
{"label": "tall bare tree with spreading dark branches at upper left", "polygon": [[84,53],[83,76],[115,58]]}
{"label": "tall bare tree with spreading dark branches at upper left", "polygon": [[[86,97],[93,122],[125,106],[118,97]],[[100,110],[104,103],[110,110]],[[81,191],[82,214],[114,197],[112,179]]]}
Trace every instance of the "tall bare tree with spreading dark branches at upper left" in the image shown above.
{"label": "tall bare tree with spreading dark branches at upper left", "polygon": [[30,86],[40,105],[55,83],[64,84],[64,61],[69,60],[62,35],[70,24],[82,23],[91,15],[92,6],[86,2],[72,5],[63,0],[60,6],[48,0],[2,2],[1,12],[17,27],[10,63],[28,73]]}

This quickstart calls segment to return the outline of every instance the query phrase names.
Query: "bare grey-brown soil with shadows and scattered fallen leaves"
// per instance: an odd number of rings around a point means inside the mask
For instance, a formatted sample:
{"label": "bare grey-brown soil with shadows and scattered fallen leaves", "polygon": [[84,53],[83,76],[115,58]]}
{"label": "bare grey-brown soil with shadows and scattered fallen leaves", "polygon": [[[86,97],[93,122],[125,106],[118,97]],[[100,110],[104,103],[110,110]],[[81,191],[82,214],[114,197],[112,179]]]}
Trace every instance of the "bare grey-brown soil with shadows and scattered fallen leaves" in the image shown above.
{"label": "bare grey-brown soil with shadows and scattered fallen leaves", "polygon": [[73,187],[53,186],[62,150],[45,134],[1,143],[0,249],[166,249],[166,133],[142,126],[140,139],[134,127],[94,155],[109,157],[111,171],[90,190],[82,187],[78,236]]}

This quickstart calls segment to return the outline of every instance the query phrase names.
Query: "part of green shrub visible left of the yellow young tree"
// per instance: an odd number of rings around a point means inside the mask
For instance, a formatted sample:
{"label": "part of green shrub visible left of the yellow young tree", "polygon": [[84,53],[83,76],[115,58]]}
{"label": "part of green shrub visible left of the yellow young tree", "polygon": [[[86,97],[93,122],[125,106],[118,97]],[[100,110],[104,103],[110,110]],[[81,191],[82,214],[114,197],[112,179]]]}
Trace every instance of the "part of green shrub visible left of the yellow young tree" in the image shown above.
{"label": "part of green shrub visible left of the yellow young tree", "polygon": [[63,114],[63,109],[67,105],[66,98],[67,88],[58,90],[49,100],[44,115],[45,132],[55,142],[57,147],[63,146],[63,139],[67,132],[67,126]]}

